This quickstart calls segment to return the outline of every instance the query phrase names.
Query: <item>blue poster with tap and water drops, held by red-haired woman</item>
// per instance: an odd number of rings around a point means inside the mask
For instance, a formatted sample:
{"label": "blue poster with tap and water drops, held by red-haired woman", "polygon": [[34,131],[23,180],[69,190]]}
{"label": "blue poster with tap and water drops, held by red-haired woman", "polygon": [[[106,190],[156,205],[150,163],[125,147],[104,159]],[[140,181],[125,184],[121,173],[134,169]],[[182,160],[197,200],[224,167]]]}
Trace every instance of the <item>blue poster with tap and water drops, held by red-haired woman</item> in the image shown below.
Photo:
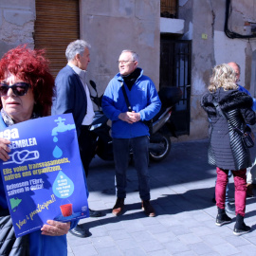
{"label": "blue poster with tap and water drops, held by red-haired woman", "polygon": [[71,114],[9,126],[11,141],[1,174],[16,237],[41,229],[47,220],[89,217],[77,132]]}

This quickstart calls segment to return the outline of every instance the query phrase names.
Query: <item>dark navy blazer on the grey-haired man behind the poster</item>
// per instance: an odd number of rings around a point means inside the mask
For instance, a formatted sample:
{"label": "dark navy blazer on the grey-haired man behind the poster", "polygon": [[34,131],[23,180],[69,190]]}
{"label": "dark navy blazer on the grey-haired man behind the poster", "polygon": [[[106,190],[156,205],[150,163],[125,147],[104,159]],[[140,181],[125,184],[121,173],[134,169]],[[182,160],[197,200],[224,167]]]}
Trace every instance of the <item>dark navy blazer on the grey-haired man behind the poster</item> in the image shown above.
{"label": "dark navy blazer on the grey-haired man behind the poster", "polygon": [[58,73],[55,86],[56,95],[53,98],[51,115],[72,113],[79,137],[82,120],[87,112],[87,99],[80,77],[67,64]]}

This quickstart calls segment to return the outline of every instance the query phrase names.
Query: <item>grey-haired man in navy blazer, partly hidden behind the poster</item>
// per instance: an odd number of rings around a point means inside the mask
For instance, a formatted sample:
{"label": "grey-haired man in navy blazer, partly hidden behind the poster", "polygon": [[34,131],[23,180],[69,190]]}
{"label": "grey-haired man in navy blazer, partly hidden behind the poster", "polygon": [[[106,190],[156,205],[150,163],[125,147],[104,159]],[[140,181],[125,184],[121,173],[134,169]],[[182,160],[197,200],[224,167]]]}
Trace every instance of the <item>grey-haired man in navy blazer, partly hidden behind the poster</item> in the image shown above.
{"label": "grey-haired man in navy blazer, partly hidden behind the poster", "polygon": [[[66,47],[65,57],[67,64],[56,77],[56,96],[53,99],[51,108],[52,115],[73,114],[86,177],[93,156],[93,140],[89,129],[95,115],[86,84],[86,70],[90,62],[89,48],[90,45],[84,40],[76,40]],[[100,217],[101,211],[90,210],[90,216]],[[79,237],[88,235],[79,226],[70,230],[70,233]]]}

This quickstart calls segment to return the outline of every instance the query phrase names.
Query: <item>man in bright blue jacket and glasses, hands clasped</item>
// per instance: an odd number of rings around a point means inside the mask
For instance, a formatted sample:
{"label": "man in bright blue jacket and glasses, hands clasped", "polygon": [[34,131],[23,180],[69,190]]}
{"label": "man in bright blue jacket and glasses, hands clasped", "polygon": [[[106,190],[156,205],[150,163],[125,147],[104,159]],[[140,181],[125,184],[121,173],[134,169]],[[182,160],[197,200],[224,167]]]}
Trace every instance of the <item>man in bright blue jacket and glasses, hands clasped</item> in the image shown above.
{"label": "man in bright blue jacket and glasses, hands clasped", "polygon": [[[113,151],[116,169],[117,202],[112,210],[118,216],[126,197],[126,170],[129,152],[134,153],[138,191],[142,210],[150,217],[155,210],[150,204],[149,127],[143,122],[155,117],[161,107],[155,84],[137,67],[135,51],[123,50],[119,56],[119,74],[109,83],[102,98],[102,110],[112,120]],[[124,87],[128,101],[123,94]],[[128,110],[130,105],[130,110]]]}

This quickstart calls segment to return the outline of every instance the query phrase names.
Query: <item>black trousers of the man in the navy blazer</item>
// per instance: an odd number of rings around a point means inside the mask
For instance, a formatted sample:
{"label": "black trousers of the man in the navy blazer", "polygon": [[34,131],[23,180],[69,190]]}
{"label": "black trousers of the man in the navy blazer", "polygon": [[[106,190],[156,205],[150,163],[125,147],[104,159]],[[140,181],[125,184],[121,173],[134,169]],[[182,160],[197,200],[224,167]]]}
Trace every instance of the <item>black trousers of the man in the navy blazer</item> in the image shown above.
{"label": "black trousers of the man in the navy blazer", "polygon": [[82,165],[85,172],[85,176],[88,176],[89,165],[94,156],[94,143],[93,138],[90,135],[90,126],[82,125],[81,134],[78,138],[80,155],[82,159]]}

